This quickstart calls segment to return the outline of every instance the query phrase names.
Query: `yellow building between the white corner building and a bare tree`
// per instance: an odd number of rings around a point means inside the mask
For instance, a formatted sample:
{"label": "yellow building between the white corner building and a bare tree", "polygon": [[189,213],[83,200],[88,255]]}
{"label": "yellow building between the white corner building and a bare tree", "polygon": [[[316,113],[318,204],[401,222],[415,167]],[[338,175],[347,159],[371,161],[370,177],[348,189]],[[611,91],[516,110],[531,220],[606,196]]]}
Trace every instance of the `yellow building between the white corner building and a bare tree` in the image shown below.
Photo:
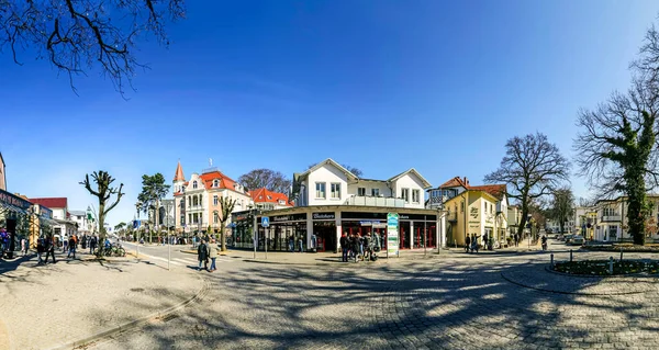
{"label": "yellow building between the white corner building and a bare tree", "polygon": [[447,242],[449,246],[465,246],[467,235],[483,242],[483,236],[501,241],[502,235],[496,218],[498,199],[482,190],[467,190],[448,200],[444,205],[448,211]]}

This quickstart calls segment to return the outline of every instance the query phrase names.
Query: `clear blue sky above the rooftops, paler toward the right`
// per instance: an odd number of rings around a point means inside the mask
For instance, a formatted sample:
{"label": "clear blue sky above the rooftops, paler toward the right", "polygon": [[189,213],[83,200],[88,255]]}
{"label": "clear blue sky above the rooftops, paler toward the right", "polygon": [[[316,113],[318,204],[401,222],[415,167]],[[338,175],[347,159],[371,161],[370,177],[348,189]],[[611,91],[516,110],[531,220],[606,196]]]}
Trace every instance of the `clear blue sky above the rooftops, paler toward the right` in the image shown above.
{"label": "clear blue sky above the rooftops, paler toward the right", "polygon": [[[572,157],[579,108],[629,83],[628,63],[656,1],[188,1],[171,46],[129,101],[88,71],[0,55],[0,151],[8,190],[93,199],[78,184],[109,170],[132,219],[143,173],[171,180],[213,158],[237,179],[291,176],[325,158],[389,178],[411,167],[432,184],[481,183],[506,139],[543,132]],[[585,195],[572,178],[577,195]]]}

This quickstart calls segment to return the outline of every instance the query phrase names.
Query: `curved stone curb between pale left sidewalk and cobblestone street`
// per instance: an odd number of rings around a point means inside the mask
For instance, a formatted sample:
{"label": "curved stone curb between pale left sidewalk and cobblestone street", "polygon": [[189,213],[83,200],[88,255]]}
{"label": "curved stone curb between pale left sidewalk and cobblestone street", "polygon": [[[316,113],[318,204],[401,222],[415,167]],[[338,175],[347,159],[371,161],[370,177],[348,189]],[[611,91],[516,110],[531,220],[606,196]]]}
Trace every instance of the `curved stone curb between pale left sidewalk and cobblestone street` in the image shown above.
{"label": "curved stone curb between pale left sidewalk and cobblestone street", "polygon": [[209,282],[205,279],[203,279],[201,275],[198,275],[198,278],[201,280],[202,286],[201,286],[201,289],[199,289],[199,291],[197,291],[197,293],[194,295],[192,295],[192,297],[188,298],[187,301],[182,301],[182,302],[180,302],[180,303],[178,303],[178,304],[176,304],[174,306],[170,306],[170,307],[168,307],[166,309],[155,312],[155,313],[153,313],[150,315],[137,318],[135,320],[132,320],[130,323],[116,326],[114,328],[97,332],[97,334],[94,334],[92,336],[89,336],[87,338],[82,338],[80,340],[75,340],[75,341],[67,342],[67,343],[62,345],[62,346],[56,346],[56,347],[49,348],[49,350],[78,349],[78,348],[85,347],[85,346],[87,346],[87,345],[89,345],[91,342],[94,342],[97,340],[100,340],[100,339],[103,339],[103,338],[108,338],[108,337],[111,337],[113,335],[126,331],[126,330],[131,330],[131,329],[133,329],[133,327],[146,324],[147,321],[149,321],[152,319],[164,318],[164,317],[166,317],[166,316],[168,316],[168,315],[170,315],[170,314],[172,314],[172,313],[175,313],[175,312],[177,312],[177,311],[186,307],[188,304],[190,304],[190,303],[192,303],[192,302],[201,298],[203,295],[205,295],[208,293],[208,291],[210,289],[209,287]]}

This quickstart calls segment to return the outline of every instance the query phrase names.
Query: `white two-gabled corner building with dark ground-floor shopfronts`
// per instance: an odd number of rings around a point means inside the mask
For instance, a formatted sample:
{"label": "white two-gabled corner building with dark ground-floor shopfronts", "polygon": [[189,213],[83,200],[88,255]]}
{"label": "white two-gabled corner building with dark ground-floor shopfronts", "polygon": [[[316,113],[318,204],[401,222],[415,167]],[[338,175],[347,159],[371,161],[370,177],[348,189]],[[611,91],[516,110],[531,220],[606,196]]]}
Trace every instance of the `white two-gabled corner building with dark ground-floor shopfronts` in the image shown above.
{"label": "white two-gabled corner building with dark ground-floor shopfronts", "polygon": [[[290,237],[302,238],[304,250],[338,251],[342,233],[379,235],[387,249],[387,214],[399,214],[400,249],[435,248],[444,244],[437,229],[442,224],[437,210],[425,208],[425,190],[431,188],[414,168],[387,180],[362,179],[326,159],[302,173],[293,174],[294,207],[255,213],[235,213],[236,247],[254,248],[252,223],[256,221],[258,247],[287,250]],[[270,226],[261,227],[268,216]],[[263,239],[265,237],[266,239]]]}

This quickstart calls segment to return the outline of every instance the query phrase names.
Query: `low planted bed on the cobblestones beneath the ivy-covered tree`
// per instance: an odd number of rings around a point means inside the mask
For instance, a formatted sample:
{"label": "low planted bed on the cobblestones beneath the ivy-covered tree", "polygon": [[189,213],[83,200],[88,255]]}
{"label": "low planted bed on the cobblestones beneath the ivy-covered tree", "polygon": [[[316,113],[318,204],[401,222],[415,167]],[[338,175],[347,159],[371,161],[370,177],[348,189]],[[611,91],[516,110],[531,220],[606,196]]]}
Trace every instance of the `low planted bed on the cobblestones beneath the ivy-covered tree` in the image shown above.
{"label": "low planted bed on the cobblestones beneath the ivy-covered tree", "polygon": [[[608,260],[563,261],[554,264],[554,271],[569,274],[608,275]],[[613,274],[657,273],[659,261],[613,261]]]}

